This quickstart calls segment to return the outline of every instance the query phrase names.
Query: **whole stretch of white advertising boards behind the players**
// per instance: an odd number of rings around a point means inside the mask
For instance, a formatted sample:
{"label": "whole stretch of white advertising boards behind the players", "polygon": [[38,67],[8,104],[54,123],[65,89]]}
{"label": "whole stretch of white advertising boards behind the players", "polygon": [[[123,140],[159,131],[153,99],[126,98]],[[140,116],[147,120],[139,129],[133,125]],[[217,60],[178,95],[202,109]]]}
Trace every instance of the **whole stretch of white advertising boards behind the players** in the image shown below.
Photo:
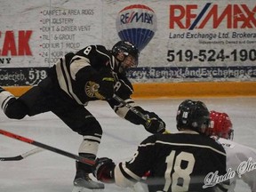
{"label": "whole stretch of white advertising boards behind the players", "polygon": [[67,52],[120,39],[140,49],[133,83],[255,81],[254,0],[2,4],[0,85],[38,84]]}

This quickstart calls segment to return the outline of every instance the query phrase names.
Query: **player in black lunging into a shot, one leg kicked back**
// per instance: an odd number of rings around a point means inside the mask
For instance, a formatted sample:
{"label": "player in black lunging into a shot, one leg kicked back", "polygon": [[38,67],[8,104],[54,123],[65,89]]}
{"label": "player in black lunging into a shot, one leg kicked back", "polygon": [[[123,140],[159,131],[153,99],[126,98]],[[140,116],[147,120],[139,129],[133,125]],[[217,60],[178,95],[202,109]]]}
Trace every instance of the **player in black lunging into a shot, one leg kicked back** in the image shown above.
{"label": "player in black lunging into a shot, one leg kicked back", "polygon": [[[82,135],[78,149],[80,156],[95,159],[100,145],[102,129],[99,122],[86,109],[92,100],[106,100],[118,116],[132,124],[142,124],[148,132],[164,132],[163,120],[148,112],[131,99],[132,84],[125,76],[127,68],[138,65],[139,51],[129,42],[120,41],[112,50],[102,45],[90,45],[76,53],[68,53],[49,70],[48,76],[38,85],[16,99],[11,92],[0,89],[0,105],[6,116],[22,119],[52,111],[74,132]],[[128,102],[150,118],[150,123],[132,113],[129,108],[114,100],[113,94]],[[163,126],[164,125],[164,126]],[[92,181],[92,167],[76,162],[75,186],[104,188]]]}

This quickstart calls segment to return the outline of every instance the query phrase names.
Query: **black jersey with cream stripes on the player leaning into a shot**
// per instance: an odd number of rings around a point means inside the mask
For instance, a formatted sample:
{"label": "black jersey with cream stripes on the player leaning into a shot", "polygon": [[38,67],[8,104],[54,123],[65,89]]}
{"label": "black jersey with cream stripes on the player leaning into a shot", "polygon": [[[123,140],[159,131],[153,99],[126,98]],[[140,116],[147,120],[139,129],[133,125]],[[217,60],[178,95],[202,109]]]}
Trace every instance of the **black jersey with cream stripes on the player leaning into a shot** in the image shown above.
{"label": "black jersey with cream stripes on the player leaning into a shot", "polygon": [[[112,75],[116,79],[114,92],[127,103],[136,107],[131,99],[133,87],[126,77],[126,71],[120,66],[121,63],[115,60],[111,51],[102,45],[90,45],[75,53],[68,53],[49,70],[49,76],[57,82],[63,92],[66,92],[72,100],[76,100],[79,105],[84,105],[92,100],[99,100],[95,95],[88,93],[88,84],[97,80],[102,68],[110,68]],[[90,87],[89,87],[90,91]],[[142,124],[136,114],[129,108],[120,105],[115,99],[108,100],[108,104],[115,110],[118,116],[132,122],[132,124]],[[147,114],[143,108],[139,108],[141,113]]]}

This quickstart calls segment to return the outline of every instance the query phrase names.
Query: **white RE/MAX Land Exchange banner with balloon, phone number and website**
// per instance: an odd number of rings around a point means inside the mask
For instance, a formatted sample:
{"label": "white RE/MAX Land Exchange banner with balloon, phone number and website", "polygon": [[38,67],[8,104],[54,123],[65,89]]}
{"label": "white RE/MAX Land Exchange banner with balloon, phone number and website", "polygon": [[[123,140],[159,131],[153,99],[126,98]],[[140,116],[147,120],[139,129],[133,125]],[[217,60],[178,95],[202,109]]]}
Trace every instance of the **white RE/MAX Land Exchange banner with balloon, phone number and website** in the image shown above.
{"label": "white RE/MAX Land Exchange banner with balloon, phone number and website", "polygon": [[255,81],[255,1],[116,1],[115,6],[116,23],[109,22],[121,39],[144,44],[148,37],[139,68],[130,73],[133,81]]}

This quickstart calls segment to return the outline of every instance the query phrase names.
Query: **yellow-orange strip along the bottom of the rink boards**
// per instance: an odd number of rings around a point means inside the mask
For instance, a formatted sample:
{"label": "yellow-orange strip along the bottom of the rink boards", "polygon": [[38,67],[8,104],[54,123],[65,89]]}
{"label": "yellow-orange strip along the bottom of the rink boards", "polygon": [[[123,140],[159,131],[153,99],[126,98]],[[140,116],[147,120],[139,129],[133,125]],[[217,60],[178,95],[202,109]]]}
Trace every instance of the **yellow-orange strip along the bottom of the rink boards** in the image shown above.
{"label": "yellow-orange strip along the bottom of the rink boards", "polygon": [[[132,98],[256,96],[256,82],[196,82],[133,84]],[[4,87],[19,97],[31,86]]]}

